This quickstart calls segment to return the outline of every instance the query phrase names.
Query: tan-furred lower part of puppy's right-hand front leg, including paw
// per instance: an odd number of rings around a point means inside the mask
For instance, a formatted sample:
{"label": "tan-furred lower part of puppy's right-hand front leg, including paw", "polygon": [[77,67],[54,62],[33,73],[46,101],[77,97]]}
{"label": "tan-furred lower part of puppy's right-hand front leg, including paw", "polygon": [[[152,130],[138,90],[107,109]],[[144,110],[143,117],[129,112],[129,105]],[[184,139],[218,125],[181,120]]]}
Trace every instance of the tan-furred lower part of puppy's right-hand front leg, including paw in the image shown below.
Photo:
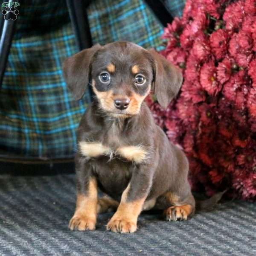
{"label": "tan-furred lower part of puppy's right-hand front leg, including paw", "polygon": [[107,224],[107,230],[115,233],[133,233],[137,230],[137,219],[142,210],[145,198],[127,202],[126,198],[129,188],[130,185],[123,192],[119,207]]}

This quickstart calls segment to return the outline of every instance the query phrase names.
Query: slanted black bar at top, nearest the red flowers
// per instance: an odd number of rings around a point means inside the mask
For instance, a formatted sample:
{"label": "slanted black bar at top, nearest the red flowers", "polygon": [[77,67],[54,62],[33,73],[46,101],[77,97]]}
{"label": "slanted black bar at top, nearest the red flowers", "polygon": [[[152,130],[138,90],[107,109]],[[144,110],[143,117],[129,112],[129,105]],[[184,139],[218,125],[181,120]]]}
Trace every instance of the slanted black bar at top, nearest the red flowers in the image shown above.
{"label": "slanted black bar at top, nearest the red flowers", "polygon": [[169,13],[166,6],[160,0],[144,0],[151,11],[156,15],[157,19],[166,26],[167,23],[171,23],[173,20],[172,15]]}

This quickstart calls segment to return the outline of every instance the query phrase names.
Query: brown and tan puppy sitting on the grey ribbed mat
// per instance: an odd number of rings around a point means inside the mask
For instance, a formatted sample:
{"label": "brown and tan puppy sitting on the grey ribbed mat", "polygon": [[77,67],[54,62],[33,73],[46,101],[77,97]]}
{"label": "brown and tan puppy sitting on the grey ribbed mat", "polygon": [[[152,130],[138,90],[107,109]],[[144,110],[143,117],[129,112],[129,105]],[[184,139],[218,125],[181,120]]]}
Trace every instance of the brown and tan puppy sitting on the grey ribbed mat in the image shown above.
{"label": "brown and tan puppy sitting on the grey ribbed mat", "polygon": [[[64,78],[81,99],[94,100],[78,128],[77,201],[70,230],[94,230],[99,212],[115,209],[107,230],[132,233],[140,212],[163,209],[168,221],[195,210],[185,154],[169,142],[143,102],[152,90],[167,108],[182,75],[154,50],[130,42],[95,45],[68,58]],[[106,197],[98,198],[98,188]]]}

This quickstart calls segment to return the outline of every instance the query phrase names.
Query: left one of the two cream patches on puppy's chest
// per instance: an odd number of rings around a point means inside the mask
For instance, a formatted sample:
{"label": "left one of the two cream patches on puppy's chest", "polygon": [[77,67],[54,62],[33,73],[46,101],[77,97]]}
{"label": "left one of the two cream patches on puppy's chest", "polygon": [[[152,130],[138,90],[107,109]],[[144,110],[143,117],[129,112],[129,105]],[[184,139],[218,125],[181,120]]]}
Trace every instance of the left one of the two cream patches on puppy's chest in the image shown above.
{"label": "left one of the two cream patches on puppy's chest", "polygon": [[108,155],[110,148],[102,145],[102,143],[92,142],[79,142],[79,149],[81,153],[86,157],[99,157],[102,155]]}

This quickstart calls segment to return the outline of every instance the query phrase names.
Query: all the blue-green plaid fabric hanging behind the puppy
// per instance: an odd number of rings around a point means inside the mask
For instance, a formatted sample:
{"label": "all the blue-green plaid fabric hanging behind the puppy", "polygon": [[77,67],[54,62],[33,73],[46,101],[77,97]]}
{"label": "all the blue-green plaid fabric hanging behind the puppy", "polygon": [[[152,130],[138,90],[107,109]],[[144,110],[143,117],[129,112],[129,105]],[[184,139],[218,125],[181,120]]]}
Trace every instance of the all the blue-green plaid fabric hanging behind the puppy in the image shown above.
{"label": "all the blue-green plaid fabric hanging behind the puppy", "polygon": [[[0,154],[73,157],[76,128],[90,99],[85,94],[75,102],[61,73],[64,59],[78,51],[66,1],[21,1],[18,9],[0,90]],[[93,43],[162,47],[163,27],[142,0],[95,0],[87,12]]]}

